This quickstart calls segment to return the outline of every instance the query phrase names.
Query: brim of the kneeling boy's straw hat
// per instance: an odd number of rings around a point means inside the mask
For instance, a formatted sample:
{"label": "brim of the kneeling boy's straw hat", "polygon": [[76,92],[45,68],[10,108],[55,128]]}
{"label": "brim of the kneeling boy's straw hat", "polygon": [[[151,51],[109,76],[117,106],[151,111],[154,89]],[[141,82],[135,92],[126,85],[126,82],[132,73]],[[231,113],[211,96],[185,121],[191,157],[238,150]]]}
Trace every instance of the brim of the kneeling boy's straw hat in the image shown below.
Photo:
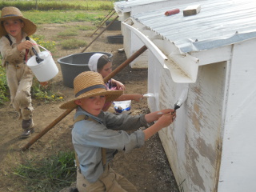
{"label": "brim of the kneeling boy's straw hat", "polygon": [[95,89],[94,91],[90,91],[90,94],[85,93],[79,95],[77,98],[71,99],[68,102],[63,103],[59,108],[61,109],[74,109],[77,104],[74,103],[74,101],[81,99],[81,98],[90,98],[96,95],[105,95],[106,96],[106,102],[114,101],[115,99],[119,98],[123,94],[122,90],[102,90],[102,89]]}

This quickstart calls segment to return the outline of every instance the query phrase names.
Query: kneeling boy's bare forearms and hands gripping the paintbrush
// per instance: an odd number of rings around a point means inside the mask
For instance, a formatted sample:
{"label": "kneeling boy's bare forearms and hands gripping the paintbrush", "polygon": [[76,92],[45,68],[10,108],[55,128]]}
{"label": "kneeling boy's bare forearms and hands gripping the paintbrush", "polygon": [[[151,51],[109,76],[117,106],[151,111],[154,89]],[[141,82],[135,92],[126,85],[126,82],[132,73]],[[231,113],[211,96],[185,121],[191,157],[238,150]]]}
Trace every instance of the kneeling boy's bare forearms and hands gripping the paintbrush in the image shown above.
{"label": "kneeling boy's bare forearms and hands gripping the paintbrush", "polygon": [[159,130],[162,130],[162,128],[169,126],[173,121],[174,118],[176,118],[176,113],[172,114],[174,110],[168,109],[168,110],[161,110],[156,111],[150,114],[145,115],[146,122],[154,122],[153,126],[150,126],[146,130],[143,130],[145,134],[145,141],[156,134]]}

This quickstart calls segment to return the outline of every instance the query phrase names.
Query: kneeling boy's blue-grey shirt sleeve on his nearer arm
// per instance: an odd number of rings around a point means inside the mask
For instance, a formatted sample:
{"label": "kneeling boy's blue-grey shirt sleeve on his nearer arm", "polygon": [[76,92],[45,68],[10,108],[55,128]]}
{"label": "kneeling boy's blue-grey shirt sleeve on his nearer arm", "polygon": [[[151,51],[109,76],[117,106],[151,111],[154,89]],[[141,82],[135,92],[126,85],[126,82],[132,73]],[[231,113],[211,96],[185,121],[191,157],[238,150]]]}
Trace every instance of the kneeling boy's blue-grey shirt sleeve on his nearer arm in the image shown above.
{"label": "kneeling boy's blue-grey shirt sleeve on his nearer arm", "polygon": [[78,146],[130,151],[144,144],[145,134],[142,130],[136,130],[132,134],[124,130],[110,130],[103,124],[85,120],[74,124],[72,138],[73,143]]}

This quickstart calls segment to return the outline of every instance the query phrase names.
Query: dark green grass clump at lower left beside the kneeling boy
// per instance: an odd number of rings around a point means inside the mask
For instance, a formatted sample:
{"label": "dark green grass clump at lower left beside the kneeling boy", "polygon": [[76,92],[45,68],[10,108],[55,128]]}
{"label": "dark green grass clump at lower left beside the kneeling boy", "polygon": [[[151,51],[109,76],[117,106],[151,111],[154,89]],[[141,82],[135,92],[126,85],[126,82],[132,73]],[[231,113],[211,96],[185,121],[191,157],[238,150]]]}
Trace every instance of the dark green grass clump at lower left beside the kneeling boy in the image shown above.
{"label": "dark green grass clump at lower left beside the kneeling boy", "polygon": [[60,152],[44,159],[26,159],[14,174],[26,184],[24,191],[60,191],[76,180],[74,152]]}

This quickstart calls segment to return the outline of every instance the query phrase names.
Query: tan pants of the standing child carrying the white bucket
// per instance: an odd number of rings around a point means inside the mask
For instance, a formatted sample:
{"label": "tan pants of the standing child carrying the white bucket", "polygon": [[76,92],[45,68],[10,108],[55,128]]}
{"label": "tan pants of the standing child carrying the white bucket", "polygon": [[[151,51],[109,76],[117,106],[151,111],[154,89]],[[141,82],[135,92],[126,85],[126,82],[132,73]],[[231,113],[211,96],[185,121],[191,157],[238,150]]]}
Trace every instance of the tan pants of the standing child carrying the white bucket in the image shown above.
{"label": "tan pants of the standing child carrying the white bucket", "polygon": [[33,106],[30,89],[33,74],[26,64],[6,64],[6,78],[10,89],[10,99],[20,118],[29,120],[32,117]]}

